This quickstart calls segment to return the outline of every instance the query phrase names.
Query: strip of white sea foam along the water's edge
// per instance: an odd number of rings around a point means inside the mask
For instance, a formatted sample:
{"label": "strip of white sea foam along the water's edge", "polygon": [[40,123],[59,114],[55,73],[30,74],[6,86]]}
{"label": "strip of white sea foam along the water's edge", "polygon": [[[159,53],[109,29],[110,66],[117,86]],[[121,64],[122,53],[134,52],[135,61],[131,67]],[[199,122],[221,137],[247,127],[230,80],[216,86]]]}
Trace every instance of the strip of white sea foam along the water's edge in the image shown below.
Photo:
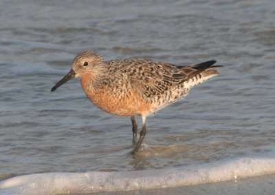
{"label": "strip of white sea foam along the water's edge", "polygon": [[275,173],[275,158],[239,158],[206,165],[131,172],[45,173],[0,183],[0,194],[63,194],[129,191],[198,185]]}

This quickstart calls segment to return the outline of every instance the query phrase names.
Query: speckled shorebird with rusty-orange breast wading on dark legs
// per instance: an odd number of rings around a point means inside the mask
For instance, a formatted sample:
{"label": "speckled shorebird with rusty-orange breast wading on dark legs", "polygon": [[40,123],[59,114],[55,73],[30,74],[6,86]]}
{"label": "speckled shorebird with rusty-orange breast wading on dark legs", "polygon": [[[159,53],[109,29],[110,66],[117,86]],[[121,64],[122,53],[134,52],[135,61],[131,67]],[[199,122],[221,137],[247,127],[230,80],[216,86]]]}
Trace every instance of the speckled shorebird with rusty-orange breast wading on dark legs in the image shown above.
{"label": "speckled shorebird with rusty-orange breast wading on dark legs", "polygon": [[58,81],[52,92],[74,77],[79,77],[83,91],[96,107],[118,116],[130,116],[133,141],[137,137],[135,116],[142,117],[140,138],[132,151],[140,150],[146,134],[146,117],[183,99],[191,88],[219,74],[206,61],[177,66],[151,59],[115,59],[104,61],[95,52],[85,51],[72,61],[72,70]]}

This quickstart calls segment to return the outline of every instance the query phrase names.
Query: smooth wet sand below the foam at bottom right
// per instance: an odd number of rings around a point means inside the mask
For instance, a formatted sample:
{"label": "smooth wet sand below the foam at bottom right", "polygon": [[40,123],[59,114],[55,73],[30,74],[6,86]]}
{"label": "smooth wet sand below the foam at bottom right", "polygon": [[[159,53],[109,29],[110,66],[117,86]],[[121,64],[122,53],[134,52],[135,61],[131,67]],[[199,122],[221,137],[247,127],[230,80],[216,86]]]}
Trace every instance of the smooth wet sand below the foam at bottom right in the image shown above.
{"label": "smooth wet sand below the foam at bottom right", "polygon": [[[175,195],[175,194],[275,194],[275,174],[258,176],[236,181],[169,187],[163,189],[146,189],[129,192],[91,193],[100,195]],[[80,195],[80,194],[78,194]],[[83,194],[84,195],[84,194]],[[85,194],[87,195],[87,194]]]}

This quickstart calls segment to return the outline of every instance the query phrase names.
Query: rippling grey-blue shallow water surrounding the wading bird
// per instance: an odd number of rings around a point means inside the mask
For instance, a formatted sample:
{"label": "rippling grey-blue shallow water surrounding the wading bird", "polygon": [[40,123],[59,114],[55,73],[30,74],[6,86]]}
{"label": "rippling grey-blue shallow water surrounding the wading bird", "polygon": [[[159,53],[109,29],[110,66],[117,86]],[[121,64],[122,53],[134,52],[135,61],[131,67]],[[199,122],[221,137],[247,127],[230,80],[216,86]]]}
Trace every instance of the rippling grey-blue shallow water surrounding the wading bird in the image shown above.
{"label": "rippling grey-blue shallow water surrounding the wading bird", "polygon": [[[273,1],[0,2],[0,178],[44,172],[155,170],[275,152]],[[147,119],[94,107],[78,79],[50,92],[74,56],[146,57],[221,74]],[[141,121],[139,119],[141,126]]]}

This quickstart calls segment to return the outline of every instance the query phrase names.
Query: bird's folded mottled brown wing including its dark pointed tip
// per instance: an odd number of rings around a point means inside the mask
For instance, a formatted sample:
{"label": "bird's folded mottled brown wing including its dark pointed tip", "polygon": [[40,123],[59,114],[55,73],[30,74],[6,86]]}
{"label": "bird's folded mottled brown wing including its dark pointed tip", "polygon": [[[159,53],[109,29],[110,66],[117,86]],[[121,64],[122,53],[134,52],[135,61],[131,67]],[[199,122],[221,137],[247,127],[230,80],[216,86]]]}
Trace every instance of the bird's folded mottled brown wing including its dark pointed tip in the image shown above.
{"label": "bird's folded mottled brown wing including its dark pointed tip", "polygon": [[110,63],[115,63],[115,71],[120,72],[132,88],[144,97],[152,98],[179,88],[179,85],[184,88],[185,81],[212,68],[215,61],[180,67],[148,59],[122,59]]}

